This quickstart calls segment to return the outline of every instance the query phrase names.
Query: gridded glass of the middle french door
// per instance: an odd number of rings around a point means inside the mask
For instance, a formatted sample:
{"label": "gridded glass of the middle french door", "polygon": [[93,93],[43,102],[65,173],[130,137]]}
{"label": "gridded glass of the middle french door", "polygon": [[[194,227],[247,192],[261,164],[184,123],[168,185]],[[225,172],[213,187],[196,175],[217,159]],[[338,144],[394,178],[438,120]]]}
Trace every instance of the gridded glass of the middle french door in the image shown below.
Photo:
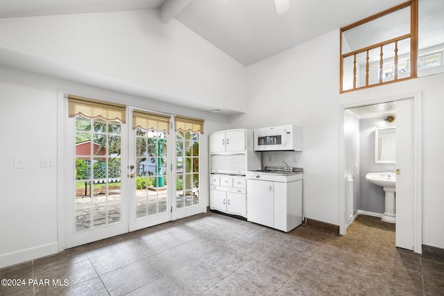
{"label": "gridded glass of the middle french door", "polygon": [[167,133],[137,128],[136,218],[167,212]]}

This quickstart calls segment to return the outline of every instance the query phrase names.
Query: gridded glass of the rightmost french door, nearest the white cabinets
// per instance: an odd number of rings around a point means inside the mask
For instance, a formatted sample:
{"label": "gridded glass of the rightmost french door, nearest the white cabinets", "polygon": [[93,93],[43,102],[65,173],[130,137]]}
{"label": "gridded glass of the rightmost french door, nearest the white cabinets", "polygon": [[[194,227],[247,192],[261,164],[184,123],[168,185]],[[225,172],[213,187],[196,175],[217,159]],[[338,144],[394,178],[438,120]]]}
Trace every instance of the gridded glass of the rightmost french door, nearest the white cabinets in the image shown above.
{"label": "gridded glass of the rightmost french door, nearest the white cabinets", "polygon": [[176,132],[176,208],[199,200],[199,132]]}

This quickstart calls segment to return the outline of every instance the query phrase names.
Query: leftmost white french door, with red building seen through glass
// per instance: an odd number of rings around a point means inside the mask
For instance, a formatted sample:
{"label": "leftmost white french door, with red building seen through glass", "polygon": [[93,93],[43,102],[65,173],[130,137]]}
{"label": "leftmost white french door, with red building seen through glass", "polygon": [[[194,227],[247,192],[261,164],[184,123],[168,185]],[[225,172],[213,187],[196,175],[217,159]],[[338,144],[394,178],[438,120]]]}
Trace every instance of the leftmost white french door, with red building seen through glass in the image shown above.
{"label": "leftmost white french door, with red building seen through glass", "polygon": [[128,231],[126,124],[75,116],[67,121],[66,247]]}

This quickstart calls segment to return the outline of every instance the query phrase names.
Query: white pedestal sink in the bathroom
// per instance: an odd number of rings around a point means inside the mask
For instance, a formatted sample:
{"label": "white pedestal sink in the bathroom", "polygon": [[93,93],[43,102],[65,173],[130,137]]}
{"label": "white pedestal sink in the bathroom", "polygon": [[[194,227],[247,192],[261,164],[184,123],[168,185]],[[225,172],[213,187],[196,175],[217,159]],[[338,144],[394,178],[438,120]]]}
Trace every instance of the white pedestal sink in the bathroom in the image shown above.
{"label": "white pedestal sink in the bathroom", "polygon": [[384,173],[368,173],[366,180],[377,186],[382,186],[386,193],[386,209],[381,220],[388,223],[396,222],[395,214],[395,192],[396,192],[396,175],[393,172]]}

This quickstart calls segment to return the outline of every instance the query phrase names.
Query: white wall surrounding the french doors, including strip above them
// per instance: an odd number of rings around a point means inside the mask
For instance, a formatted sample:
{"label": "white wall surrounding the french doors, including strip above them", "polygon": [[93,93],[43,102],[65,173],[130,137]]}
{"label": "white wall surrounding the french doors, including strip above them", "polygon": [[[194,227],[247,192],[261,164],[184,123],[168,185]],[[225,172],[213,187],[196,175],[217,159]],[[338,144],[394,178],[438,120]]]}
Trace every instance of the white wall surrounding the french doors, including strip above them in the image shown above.
{"label": "white wall surrounding the french doors, including strip above them", "polygon": [[[228,118],[105,89],[0,67],[0,268],[58,252],[58,168],[42,168],[42,157],[58,159],[58,89],[71,94],[108,99],[135,107],[205,119],[207,136],[228,128]],[[204,146],[202,202],[208,204],[208,155]],[[25,168],[14,168],[14,157]],[[63,159],[63,157],[61,157]]]}

